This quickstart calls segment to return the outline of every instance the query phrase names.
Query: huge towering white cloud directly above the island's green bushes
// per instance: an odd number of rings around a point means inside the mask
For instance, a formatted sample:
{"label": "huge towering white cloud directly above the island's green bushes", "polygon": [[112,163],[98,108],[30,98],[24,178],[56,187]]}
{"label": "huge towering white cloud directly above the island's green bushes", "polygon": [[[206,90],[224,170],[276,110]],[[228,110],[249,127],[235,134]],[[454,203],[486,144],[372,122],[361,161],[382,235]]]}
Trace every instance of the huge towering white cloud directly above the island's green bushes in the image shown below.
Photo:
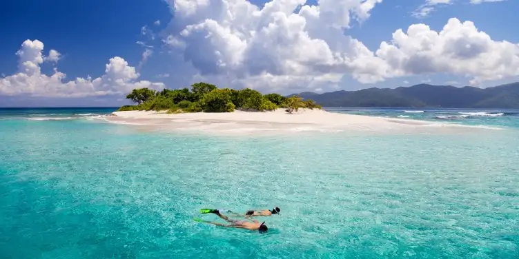
{"label": "huge towering white cloud directly above the island's green bushes", "polygon": [[259,9],[244,0],[169,0],[175,26],[164,41],[183,53],[198,79],[230,86],[333,87],[346,73],[363,82],[382,79],[371,71],[384,70],[373,52],[343,34],[382,0],[305,2],[275,0]]}

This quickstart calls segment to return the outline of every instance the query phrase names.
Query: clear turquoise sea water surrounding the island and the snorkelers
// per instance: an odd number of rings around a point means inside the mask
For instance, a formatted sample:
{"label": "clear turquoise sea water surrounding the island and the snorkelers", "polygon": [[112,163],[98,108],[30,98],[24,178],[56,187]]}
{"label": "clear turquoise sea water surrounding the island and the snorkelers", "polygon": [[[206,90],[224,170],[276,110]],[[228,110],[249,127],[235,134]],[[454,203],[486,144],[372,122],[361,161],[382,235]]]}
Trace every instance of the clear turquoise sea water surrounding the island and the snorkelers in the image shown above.
{"label": "clear turquoise sea water surrounding the island and the snorkelers", "polygon": [[[231,137],[112,110],[0,110],[0,258],[519,258],[516,111],[335,109],[503,128],[478,135]],[[193,221],[274,206],[267,234]]]}

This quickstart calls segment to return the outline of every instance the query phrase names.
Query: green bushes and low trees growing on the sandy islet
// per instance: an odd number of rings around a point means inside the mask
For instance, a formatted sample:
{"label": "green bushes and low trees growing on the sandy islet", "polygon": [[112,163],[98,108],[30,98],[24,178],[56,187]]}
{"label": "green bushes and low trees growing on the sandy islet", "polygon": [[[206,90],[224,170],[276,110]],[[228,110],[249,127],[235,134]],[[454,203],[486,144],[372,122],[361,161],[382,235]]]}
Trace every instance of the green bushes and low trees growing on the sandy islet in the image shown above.
{"label": "green bushes and low trees growing on the sandy islet", "polygon": [[322,109],[321,105],[311,99],[304,100],[298,95],[290,97],[281,94],[262,94],[256,90],[245,88],[235,90],[218,88],[210,83],[195,83],[191,89],[164,89],[162,91],[148,88],[134,89],[128,95],[135,105],[125,105],[118,111],[164,111],[180,112],[234,112],[248,110],[257,112],[272,111],[280,108],[288,113],[297,112],[301,108]]}

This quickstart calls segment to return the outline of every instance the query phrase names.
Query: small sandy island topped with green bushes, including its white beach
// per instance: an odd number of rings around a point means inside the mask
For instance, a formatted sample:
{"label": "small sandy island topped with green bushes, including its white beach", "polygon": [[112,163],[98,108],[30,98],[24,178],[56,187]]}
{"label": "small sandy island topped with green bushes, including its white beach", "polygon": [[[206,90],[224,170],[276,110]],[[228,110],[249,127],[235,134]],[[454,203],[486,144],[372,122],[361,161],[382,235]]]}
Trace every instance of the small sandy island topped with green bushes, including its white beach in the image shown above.
{"label": "small sandy island topped with green bushes, including its white beach", "polygon": [[106,121],[146,130],[231,135],[345,131],[437,134],[482,130],[467,125],[327,112],[315,101],[299,95],[262,94],[248,88],[219,89],[203,82],[193,84],[190,90],[135,89],[126,98],[135,105],[120,107],[106,116]]}

